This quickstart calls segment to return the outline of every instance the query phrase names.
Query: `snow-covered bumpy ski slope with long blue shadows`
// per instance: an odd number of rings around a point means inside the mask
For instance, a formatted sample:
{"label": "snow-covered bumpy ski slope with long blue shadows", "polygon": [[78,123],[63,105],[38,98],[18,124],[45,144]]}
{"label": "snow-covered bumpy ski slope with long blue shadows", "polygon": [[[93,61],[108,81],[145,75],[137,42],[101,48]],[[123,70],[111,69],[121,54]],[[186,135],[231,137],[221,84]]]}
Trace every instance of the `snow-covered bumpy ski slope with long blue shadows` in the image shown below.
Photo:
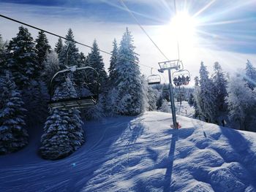
{"label": "snow-covered bumpy ski slope with long blue shadows", "polygon": [[59,161],[37,156],[39,135],[0,156],[0,191],[256,191],[256,134],[177,116],[86,122],[86,143]]}

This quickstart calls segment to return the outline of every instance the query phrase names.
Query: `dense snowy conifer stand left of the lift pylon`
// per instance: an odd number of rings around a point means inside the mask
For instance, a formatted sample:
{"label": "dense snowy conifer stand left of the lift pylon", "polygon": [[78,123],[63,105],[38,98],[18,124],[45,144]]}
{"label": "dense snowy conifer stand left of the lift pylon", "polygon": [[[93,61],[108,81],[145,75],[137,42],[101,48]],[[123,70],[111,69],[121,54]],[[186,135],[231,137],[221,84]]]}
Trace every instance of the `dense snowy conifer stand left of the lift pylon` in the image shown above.
{"label": "dense snowy conifer stand left of the lift pylon", "polygon": [[[29,128],[43,130],[39,153],[43,158],[59,159],[86,142],[82,125],[85,120],[99,120],[113,115],[139,115],[148,108],[148,86],[140,74],[131,32],[126,29],[118,46],[113,40],[107,74],[97,41],[88,55],[80,53],[69,28],[66,41],[61,38],[50,47],[43,31],[36,39],[20,26],[10,42],[0,35],[0,154],[14,152],[29,142]],[[50,80],[69,66],[91,66],[99,73],[97,106],[83,110],[48,109]],[[85,74],[59,79],[53,99],[76,97]],[[86,74],[90,78],[93,74]],[[93,78],[93,77],[91,77]],[[150,104],[152,110],[156,107]]]}

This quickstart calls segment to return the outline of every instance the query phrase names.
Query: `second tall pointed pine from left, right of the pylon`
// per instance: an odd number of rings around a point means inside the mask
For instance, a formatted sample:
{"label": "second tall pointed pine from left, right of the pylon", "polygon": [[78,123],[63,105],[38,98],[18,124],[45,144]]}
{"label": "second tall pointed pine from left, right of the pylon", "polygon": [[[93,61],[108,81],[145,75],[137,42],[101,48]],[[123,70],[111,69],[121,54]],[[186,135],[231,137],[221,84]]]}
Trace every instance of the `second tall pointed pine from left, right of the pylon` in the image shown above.
{"label": "second tall pointed pine from left, right of the pylon", "polygon": [[218,110],[224,112],[227,109],[225,104],[225,97],[227,96],[227,79],[224,72],[222,72],[222,66],[220,66],[218,62],[215,62],[214,64],[214,74],[212,79],[214,82],[214,95],[216,97]]}

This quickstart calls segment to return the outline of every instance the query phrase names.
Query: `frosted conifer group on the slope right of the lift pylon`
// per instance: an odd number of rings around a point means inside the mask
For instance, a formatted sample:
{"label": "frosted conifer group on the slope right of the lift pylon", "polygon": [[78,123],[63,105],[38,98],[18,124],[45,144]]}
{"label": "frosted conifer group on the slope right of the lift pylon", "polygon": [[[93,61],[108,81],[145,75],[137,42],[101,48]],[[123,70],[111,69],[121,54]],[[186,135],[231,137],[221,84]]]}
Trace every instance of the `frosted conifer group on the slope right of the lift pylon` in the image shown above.
{"label": "frosted conifer group on the slope right of the lift pylon", "polygon": [[192,104],[195,118],[244,131],[256,131],[256,68],[247,61],[244,71],[229,77],[218,62],[209,76],[206,65],[200,65],[195,77]]}

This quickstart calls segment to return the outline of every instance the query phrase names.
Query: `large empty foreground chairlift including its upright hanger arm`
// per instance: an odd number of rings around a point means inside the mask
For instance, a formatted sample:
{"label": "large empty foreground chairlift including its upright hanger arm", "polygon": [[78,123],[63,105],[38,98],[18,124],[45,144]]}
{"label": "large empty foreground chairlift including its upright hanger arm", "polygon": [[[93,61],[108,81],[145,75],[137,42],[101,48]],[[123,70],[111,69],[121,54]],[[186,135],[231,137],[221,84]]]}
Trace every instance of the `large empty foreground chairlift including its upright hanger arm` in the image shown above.
{"label": "large empty foreground chairlift including its upright hanger arm", "polygon": [[[70,43],[69,43],[70,45]],[[68,50],[69,45],[67,46],[66,52],[66,61],[65,66],[67,69],[56,72],[50,80],[50,101],[48,106],[51,110],[60,109],[60,110],[71,110],[71,109],[83,109],[88,107],[94,107],[98,103],[99,99],[99,74],[91,66],[67,66]],[[54,99],[53,94],[58,85],[61,85],[62,82],[66,80],[67,77],[78,77],[80,74],[85,74],[84,80],[80,82],[80,85],[83,85],[83,88],[87,90],[87,93],[82,93],[75,98],[65,98],[65,99]],[[87,78],[87,74],[92,74],[92,79]],[[61,79],[62,77],[62,79]],[[83,91],[82,91],[83,92]]]}

